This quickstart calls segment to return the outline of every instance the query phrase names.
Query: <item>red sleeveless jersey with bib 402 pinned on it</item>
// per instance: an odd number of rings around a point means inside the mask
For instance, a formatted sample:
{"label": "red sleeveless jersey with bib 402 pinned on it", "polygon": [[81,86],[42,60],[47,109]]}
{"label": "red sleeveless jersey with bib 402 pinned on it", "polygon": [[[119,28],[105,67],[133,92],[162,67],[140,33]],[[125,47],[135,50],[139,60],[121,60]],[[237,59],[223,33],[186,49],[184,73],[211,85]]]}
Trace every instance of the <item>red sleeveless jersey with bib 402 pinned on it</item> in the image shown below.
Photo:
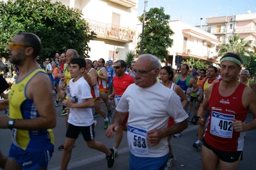
{"label": "red sleeveless jersey with bib 402 pinned on it", "polygon": [[235,132],[231,119],[245,123],[248,110],[243,106],[242,95],[246,86],[240,83],[229,97],[222,97],[218,87],[216,82],[209,98],[210,116],[204,140],[218,150],[243,151],[245,132]]}

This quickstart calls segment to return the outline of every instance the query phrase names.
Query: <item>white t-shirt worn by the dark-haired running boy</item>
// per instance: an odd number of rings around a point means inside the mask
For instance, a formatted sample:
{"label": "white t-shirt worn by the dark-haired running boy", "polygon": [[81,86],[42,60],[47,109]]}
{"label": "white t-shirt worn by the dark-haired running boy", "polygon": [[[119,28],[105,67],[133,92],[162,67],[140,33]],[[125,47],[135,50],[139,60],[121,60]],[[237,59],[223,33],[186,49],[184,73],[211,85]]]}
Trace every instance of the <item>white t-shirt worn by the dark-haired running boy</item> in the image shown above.
{"label": "white t-shirt worn by the dark-haired running boy", "polygon": [[[72,101],[81,104],[82,102],[86,102],[86,98],[92,98],[90,86],[83,77],[76,82],[73,82],[73,80],[71,79],[69,82],[69,92]],[[94,123],[92,108],[71,108],[67,122],[80,127],[92,125]]]}

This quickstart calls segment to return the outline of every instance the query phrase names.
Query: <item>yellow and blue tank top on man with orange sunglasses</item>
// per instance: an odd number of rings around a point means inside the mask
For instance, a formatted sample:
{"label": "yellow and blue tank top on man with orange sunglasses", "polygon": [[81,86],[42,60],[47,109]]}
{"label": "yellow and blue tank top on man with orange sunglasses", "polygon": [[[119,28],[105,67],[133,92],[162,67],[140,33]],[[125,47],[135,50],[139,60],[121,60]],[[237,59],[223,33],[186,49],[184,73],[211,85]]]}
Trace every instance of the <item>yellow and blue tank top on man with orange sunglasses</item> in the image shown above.
{"label": "yellow and blue tank top on man with orange sunglasses", "polygon": [[[36,68],[12,86],[8,95],[10,118],[30,120],[40,117],[35,103],[26,96],[28,83],[37,73],[46,72],[42,68]],[[44,151],[54,144],[53,130],[20,130],[13,128],[12,141],[15,146],[22,148],[22,150]]]}

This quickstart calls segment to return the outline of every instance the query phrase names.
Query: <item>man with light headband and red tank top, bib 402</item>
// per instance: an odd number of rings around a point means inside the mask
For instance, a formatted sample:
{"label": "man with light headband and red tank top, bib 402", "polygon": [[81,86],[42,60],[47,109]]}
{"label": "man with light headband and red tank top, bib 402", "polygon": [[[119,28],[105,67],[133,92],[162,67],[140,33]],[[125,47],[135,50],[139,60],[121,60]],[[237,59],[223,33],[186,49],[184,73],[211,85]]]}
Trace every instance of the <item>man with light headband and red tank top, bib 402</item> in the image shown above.
{"label": "man with light headband and red tank top, bib 402", "polygon": [[[198,110],[203,116],[210,109],[207,129],[203,137],[203,169],[238,169],[242,159],[245,131],[256,128],[256,96],[253,90],[237,81],[241,58],[226,53],[220,60],[221,78],[205,91],[205,99]],[[245,123],[248,109],[253,121]]]}

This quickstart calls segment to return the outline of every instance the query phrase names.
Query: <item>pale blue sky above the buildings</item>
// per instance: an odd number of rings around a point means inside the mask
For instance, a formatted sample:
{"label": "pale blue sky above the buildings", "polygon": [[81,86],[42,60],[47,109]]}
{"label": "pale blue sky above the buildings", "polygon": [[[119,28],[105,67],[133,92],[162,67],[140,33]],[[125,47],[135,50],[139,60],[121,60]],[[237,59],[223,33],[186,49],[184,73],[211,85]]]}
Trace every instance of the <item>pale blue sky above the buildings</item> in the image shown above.
{"label": "pale blue sky above the buildings", "polygon": [[[183,20],[187,24],[205,25],[209,17],[222,17],[244,13],[255,13],[256,0],[146,0],[146,12],[150,8],[164,7],[171,20]],[[144,13],[145,0],[139,0],[138,16]]]}

